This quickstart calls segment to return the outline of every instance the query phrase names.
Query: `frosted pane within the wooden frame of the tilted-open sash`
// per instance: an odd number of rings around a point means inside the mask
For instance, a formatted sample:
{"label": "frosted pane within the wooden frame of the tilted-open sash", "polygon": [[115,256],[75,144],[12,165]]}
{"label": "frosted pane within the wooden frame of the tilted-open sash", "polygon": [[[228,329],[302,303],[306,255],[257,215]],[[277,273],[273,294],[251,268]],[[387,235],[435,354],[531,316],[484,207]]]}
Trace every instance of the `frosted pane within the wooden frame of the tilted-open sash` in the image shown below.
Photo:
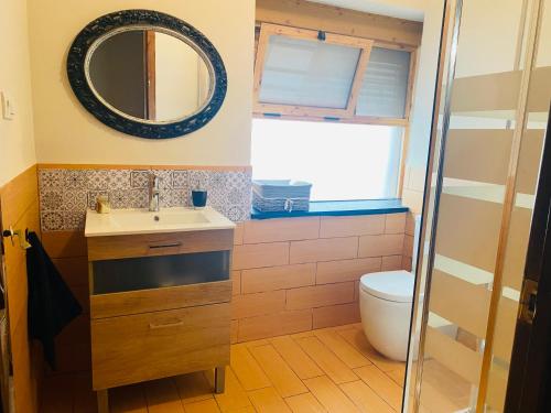
{"label": "frosted pane within the wooden frame of the tilted-open sash", "polygon": [[345,109],[359,55],[357,47],[271,36],[259,101]]}

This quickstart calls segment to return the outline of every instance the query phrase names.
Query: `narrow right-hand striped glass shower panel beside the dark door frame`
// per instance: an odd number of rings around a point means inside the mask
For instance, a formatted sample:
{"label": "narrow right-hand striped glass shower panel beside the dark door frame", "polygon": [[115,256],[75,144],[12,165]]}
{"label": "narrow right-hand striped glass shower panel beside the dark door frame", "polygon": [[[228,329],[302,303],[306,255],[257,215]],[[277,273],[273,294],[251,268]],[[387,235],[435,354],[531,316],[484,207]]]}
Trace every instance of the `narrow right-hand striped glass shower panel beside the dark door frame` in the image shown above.
{"label": "narrow right-hand striped glass shower panel beside the dark door frame", "polygon": [[504,244],[500,291],[495,295],[493,346],[488,349],[486,359],[489,369],[485,376],[487,385],[480,405],[484,405],[488,413],[504,411],[528,238],[551,102],[551,0],[543,0],[540,8],[526,100],[526,122],[512,189],[514,205]]}

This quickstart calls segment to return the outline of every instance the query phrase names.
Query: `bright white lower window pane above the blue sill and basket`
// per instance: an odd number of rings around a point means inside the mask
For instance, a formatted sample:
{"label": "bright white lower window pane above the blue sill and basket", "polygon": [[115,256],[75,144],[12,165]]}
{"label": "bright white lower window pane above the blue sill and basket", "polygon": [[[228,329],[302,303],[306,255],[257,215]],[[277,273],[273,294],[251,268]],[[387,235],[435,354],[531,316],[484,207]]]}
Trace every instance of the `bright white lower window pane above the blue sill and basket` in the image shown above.
{"label": "bright white lower window pane above the blue sill and basket", "polygon": [[255,180],[307,181],[313,200],[396,198],[402,128],[253,119]]}

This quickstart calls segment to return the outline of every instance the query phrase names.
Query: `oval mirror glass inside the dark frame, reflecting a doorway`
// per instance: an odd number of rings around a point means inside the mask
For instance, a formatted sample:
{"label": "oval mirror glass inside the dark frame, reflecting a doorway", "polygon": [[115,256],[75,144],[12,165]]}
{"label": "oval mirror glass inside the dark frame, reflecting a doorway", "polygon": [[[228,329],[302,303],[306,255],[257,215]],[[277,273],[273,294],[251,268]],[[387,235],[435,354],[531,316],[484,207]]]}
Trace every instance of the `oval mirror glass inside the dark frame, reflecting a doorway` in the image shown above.
{"label": "oval mirror glass inside the dark frame, reflecting a doorway", "polygon": [[179,37],[129,30],[105,39],[87,66],[97,96],[121,115],[173,122],[199,110],[209,98],[205,59]]}

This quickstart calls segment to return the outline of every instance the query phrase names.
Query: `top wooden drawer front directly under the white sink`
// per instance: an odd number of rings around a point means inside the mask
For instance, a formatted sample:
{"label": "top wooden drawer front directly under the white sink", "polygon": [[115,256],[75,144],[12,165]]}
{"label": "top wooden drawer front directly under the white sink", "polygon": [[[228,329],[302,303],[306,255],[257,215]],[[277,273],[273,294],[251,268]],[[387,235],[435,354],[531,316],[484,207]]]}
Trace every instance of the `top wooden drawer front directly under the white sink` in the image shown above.
{"label": "top wooden drawer front directly under the white sink", "polygon": [[231,250],[234,230],[90,237],[88,261]]}

